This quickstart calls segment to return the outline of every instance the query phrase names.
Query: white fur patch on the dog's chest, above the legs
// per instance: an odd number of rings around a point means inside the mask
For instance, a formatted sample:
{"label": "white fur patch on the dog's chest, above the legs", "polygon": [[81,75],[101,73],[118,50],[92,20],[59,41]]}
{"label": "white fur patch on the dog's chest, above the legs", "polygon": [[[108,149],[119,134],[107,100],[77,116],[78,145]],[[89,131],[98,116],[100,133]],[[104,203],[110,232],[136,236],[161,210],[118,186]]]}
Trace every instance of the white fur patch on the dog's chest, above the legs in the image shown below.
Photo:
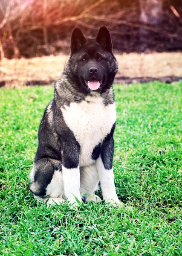
{"label": "white fur patch on the dog's chest, above the legs", "polygon": [[81,103],[71,103],[61,108],[66,125],[81,145],[80,166],[94,162],[92,151],[116,122],[115,104],[104,106],[101,96],[87,96]]}

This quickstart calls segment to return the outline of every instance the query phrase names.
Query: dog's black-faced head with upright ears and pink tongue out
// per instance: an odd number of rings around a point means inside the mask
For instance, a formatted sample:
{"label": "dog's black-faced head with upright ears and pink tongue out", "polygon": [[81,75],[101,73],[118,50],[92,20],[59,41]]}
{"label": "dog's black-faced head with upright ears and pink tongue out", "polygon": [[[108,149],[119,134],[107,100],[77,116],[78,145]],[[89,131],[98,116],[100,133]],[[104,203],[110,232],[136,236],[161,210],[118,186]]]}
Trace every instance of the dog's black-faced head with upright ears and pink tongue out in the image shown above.
{"label": "dog's black-faced head with upright ears and pink tongue out", "polygon": [[97,37],[90,39],[76,28],[72,32],[70,48],[66,73],[77,89],[84,93],[103,93],[109,89],[118,69],[109,30],[102,26]]}

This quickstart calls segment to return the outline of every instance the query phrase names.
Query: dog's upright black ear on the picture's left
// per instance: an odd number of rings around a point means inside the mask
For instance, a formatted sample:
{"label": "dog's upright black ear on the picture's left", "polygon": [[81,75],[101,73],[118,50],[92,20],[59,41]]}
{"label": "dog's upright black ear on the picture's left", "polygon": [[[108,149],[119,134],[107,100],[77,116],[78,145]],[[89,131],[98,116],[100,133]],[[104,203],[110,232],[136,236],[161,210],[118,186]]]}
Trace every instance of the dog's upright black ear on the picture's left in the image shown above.
{"label": "dog's upright black ear on the picture's left", "polygon": [[75,50],[79,49],[86,43],[86,39],[81,32],[81,29],[75,28],[72,32],[71,37],[71,52],[74,52]]}

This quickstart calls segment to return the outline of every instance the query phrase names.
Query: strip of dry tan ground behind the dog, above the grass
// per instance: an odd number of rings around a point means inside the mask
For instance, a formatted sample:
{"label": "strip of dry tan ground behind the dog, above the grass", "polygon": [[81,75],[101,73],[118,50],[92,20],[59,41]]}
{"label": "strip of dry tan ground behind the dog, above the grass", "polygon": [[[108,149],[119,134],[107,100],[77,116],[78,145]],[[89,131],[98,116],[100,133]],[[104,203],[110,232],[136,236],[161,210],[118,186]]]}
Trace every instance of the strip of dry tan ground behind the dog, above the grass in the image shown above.
{"label": "strip of dry tan ground behind the dog, above the grass", "polygon": [[[66,55],[51,55],[32,59],[3,59],[0,62],[0,87],[50,84],[61,77],[66,58]],[[116,58],[119,65],[116,81],[166,81],[171,77],[171,81],[176,81],[182,77],[182,52],[116,53]]]}

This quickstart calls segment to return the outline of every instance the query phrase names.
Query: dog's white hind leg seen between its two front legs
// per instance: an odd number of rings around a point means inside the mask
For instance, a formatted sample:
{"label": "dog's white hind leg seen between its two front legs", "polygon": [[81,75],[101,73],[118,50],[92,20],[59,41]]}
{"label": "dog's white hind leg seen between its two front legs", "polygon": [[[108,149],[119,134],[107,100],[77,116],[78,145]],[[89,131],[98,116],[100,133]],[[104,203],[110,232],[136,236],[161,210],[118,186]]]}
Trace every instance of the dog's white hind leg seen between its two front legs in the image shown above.
{"label": "dog's white hind leg seen between its two front legs", "polygon": [[82,167],[80,169],[80,175],[80,193],[86,194],[82,197],[84,201],[94,201],[96,203],[101,201],[101,198],[94,194],[95,190],[98,189],[99,183],[98,172],[95,164]]}

